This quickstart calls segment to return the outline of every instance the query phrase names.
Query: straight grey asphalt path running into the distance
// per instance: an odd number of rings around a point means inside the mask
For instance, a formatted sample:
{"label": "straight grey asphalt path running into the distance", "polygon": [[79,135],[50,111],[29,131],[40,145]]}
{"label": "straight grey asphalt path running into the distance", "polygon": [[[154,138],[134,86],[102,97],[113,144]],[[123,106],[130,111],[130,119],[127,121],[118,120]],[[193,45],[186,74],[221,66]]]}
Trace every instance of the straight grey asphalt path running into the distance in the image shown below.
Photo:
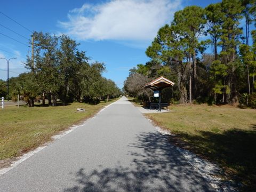
{"label": "straight grey asphalt path running into the distance", "polygon": [[123,97],[1,175],[0,191],[214,190]]}

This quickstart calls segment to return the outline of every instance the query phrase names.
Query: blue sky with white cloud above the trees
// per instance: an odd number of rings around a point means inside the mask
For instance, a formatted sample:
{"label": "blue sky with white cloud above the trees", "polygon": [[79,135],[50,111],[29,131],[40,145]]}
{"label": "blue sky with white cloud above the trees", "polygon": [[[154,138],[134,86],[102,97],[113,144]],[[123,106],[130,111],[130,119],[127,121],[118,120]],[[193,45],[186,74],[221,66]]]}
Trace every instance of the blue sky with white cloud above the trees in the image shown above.
{"label": "blue sky with white cloud above the trees", "polygon": [[[202,0],[108,0],[108,1],[2,1],[0,12],[31,31],[67,34],[81,43],[92,61],[104,62],[103,76],[122,88],[129,69],[149,61],[145,51],[157,30],[170,23],[173,13],[189,5],[205,7],[219,1]],[[4,27],[26,37],[21,37]],[[31,54],[30,31],[0,14],[0,57],[11,60],[9,77],[26,71],[23,62]],[[24,45],[25,44],[25,45]],[[6,61],[0,59],[0,79],[7,79]]]}

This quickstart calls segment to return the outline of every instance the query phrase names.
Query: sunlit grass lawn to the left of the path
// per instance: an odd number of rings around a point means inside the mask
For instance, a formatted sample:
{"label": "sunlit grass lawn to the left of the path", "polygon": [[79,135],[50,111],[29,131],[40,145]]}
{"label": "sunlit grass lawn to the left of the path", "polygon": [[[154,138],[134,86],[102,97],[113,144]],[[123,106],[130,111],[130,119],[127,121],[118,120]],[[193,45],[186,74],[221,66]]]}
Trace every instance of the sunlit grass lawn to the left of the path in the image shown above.
{"label": "sunlit grass lawn to the left of the path", "polygon": [[[0,160],[20,156],[51,141],[53,135],[81,123],[115,100],[98,105],[74,102],[58,107],[10,106],[1,109]],[[84,108],[85,112],[77,112],[77,108]]]}

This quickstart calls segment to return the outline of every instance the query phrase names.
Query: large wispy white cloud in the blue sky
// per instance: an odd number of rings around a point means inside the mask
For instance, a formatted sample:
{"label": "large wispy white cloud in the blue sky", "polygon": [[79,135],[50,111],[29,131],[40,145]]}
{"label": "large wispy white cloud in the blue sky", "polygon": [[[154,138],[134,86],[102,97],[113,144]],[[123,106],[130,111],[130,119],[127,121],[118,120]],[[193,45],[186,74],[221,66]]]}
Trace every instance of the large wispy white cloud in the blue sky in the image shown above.
{"label": "large wispy white cloud in the blue sky", "polygon": [[81,40],[151,41],[179,9],[181,0],[112,0],[73,9],[59,25]]}

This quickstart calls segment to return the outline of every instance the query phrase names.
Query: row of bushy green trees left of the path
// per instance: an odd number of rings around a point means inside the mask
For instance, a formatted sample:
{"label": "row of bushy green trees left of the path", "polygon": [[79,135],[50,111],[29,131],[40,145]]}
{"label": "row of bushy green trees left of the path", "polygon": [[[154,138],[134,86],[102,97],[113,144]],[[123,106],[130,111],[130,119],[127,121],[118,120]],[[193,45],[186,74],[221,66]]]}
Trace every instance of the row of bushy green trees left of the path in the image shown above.
{"label": "row of bushy green trees left of the path", "polygon": [[[73,101],[97,103],[119,97],[121,91],[110,79],[102,77],[104,63],[90,62],[85,51],[67,35],[59,37],[49,33],[34,32],[34,58],[27,56],[29,73],[10,78],[12,95],[23,95],[30,107],[36,99],[45,99],[56,106],[57,99],[66,105]],[[32,42],[30,42],[32,44]],[[0,82],[2,95],[4,81]]]}

